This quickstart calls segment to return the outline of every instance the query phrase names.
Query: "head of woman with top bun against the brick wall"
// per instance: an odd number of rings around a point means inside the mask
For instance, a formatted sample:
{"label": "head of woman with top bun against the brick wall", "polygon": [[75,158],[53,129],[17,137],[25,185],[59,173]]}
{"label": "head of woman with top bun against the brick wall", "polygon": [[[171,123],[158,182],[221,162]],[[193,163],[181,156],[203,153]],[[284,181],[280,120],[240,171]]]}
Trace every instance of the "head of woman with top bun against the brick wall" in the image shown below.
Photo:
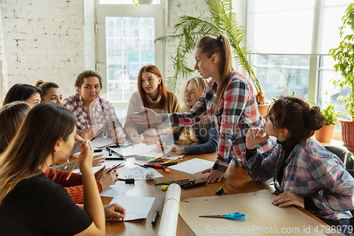
{"label": "head of woman with top bun against the brick wall", "polygon": [[41,103],[58,103],[62,104],[62,91],[55,82],[45,82],[43,79],[38,79],[34,84],[40,89]]}

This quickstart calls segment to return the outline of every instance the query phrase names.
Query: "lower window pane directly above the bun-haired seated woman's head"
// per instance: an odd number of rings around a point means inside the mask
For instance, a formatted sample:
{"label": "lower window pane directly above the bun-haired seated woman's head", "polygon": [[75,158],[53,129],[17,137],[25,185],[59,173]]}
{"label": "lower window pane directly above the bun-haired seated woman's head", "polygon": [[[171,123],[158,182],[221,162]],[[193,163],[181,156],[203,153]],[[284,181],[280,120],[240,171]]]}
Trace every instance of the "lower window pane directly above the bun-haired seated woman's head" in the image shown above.
{"label": "lower window pane directly above the bun-haired seated woman's head", "polygon": [[307,99],[309,56],[251,55],[253,69],[267,98],[280,94]]}

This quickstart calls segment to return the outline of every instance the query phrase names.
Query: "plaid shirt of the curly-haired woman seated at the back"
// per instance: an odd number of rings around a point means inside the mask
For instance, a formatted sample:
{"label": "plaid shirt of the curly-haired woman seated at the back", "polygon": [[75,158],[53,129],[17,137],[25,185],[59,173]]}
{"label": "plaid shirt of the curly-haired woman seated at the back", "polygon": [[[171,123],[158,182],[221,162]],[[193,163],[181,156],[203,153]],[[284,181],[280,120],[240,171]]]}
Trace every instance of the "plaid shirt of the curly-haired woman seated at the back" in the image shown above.
{"label": "plaid shirt of the curly-haired woman seated at the back", "polygon": [[103,135],[105,131],[107,131],[109,135],[113,130],[113,121],[115,122],[115,128],[122,128],[117,115],[115,115],[112,103],[100,97],[90,104],[91,120],[89,119],[85,103],[82,101],[79,93],[64,99],[63,105],[76,116],[77,132],[82,132],[92,125],[98,124],[101,125],[101,132],[98,136]]}

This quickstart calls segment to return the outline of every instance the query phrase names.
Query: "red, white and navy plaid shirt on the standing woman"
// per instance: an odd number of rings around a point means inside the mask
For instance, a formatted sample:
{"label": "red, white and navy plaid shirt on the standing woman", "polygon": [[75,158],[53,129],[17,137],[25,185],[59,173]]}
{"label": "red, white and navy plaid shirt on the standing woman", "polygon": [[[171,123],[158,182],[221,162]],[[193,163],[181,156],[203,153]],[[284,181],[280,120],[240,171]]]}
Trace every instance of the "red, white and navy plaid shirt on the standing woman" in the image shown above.
{"label": "red, white and navy plaid shirt on the standing woman", "polygon": [[[185,113],[161,114],[163,122],[173,126],[192,126],[208,116],[219,138],[217,160],[212,169],[226,172],[231,160],[244,166],[241,156],[246,150],[246,134],[249,128],[263,128],[263,119],[258,113],[256,96],[249,81],[234,72],[227,84],[216,116],[213,116],[217,100],[217,84],[212,79],[202,96],[190,111]],[[168,120],[168,118],[170,118]],[[267,152],[274,146],[274,139],[258,145],[260,152]]]}

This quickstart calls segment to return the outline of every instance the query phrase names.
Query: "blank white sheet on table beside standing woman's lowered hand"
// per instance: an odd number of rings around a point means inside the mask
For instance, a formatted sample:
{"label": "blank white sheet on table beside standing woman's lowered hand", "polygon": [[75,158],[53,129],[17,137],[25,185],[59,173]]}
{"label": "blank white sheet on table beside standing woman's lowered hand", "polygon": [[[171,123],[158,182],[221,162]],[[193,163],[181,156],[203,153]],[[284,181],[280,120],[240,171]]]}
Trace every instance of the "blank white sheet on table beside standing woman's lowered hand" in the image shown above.
{"label": "blank white sheet on table beside standing woman's lowered hand", "polygon": [[195,174],[201,172],[205,169],[212,168],[214,162],[207,161],[205,159],[194,158],[187,162],[182,162],[180,164],[175,164],[169,169],[176,169],[180,172],[185,172],[188,174]]}

